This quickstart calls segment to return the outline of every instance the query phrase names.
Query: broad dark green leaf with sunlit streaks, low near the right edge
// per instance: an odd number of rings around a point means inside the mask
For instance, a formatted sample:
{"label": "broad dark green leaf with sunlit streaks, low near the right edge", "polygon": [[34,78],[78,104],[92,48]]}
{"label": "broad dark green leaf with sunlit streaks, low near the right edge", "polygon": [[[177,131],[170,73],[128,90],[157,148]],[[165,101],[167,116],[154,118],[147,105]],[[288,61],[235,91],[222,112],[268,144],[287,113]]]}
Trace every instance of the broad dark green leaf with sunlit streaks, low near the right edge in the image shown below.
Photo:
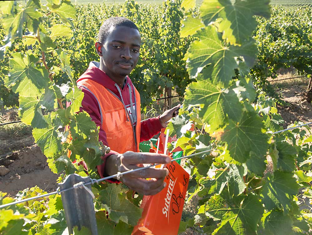
{"label": "broad dark green leaf with sunlit streaks, low near the right edge", "polygon": [[268,176],[262,187],[262,202],[267,210],[275,208],[289,211],[293,195],[298,193],[299,185],[290,172],[277,170],[274,176]]}

